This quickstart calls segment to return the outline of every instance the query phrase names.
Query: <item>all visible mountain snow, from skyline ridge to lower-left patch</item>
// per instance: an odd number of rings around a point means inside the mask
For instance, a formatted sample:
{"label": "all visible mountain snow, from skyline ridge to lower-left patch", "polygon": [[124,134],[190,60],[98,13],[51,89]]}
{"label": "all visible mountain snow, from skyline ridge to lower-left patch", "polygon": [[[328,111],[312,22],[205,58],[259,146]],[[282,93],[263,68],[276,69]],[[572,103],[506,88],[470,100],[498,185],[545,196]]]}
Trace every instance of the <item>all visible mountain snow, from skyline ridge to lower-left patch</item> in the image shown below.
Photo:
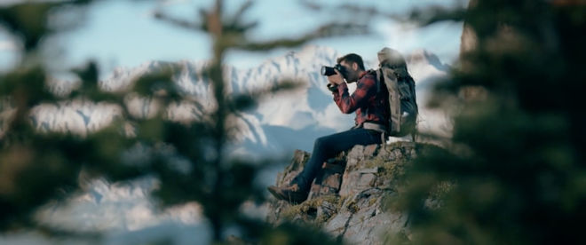
{"label": "all visible mountain snow, from skyline ridge to lower-left patch", "polygon": [[[328,47],[306,46],[301,51],[291,51],[281,57],[268,59],[254,68],[226,67],[226,90],[231,95],[262,90],[282,79],[304,82],[296,91],[267,95],[254,109],[232,117],[231,122],[238,126],[239,134],[236,136],[237,142],[231,146],[231,152],[235,155],[262,157],[287,155],[296,148],[311,151],[315,138],[351,128],[354,115],[344,115],[339,111],[333,103],[331,92],[327,90],[326,77],[320,75],[321,66],[333,66],[341,55]],[[364,59],[376,60],[376,53],[364,54]],[[416,79],[420,130],[448,133],[446,116],[424,108],[431,84],[445,76],[448,67],[437,56],[423,50],[406,56],[406,60],[409,72]],[[207,64],[205,61],[150,61],[139,67],[117,68],[112,75],[99,82],[99,87],[104,91],[126,91],[132,81],[141,75],[173,68],[176,71],[174,82],[186,94],[197,99],[202,107],[181,103],[170,107],[168,115],[171,120],[193,120],[214,107],[210,102],[210,81],[201,75]],[[366,65],[373,67],[376,62],[367,61]],[[50,85],[56,93],[67,94],[72,86],[75,88],[78,84],[52,82]],[[351,83],[351,92],[353,88],[355,83]],[[126,99],[126,104],[135,115],[152,115],[156,109],[153,101],[132,94]],[[72,131],[85,135],[106,126],[118,115],[121,115],[119,107],[78,99],[38,106],[33,110],[31,118],[38,130]],[[264,179],[263,182],[273,181]],[[49,220],[51,225],[106,231],[108,241],[119,243],[141,234],[149,233],[152,236],[154,234],[148,231],[153,229],[178,231],[180,229],[170,227],[205,222],[196,204],[156,211],[148,198],[148,192],[155,186],[156,181],[152,178],[124,185],[96,180],[71,202],[44,209],[40,215],[44,220]]]}

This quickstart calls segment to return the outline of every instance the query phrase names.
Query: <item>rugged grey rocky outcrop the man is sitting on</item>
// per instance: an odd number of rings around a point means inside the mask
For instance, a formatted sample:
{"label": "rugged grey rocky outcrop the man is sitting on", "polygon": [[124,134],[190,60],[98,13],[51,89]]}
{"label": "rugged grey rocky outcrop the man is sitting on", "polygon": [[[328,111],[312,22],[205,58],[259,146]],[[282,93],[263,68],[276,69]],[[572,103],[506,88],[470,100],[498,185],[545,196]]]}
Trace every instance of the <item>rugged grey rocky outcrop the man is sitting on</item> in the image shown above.
{"label": "rugged grey rocky outcrop the man is sitting on", "polygon": [[[339,241],[356,244],[382,244],[393,235],[408,238],[408,216],[387,206],[400,191],[406,166],[432,147],[414,142],[354,146],[324,162],[307,201],[291,205],[271,200],[267,219],[273,225],[316,225]],[[277,177],[277,186],[303,170],[309,156],[297,151]]]}

